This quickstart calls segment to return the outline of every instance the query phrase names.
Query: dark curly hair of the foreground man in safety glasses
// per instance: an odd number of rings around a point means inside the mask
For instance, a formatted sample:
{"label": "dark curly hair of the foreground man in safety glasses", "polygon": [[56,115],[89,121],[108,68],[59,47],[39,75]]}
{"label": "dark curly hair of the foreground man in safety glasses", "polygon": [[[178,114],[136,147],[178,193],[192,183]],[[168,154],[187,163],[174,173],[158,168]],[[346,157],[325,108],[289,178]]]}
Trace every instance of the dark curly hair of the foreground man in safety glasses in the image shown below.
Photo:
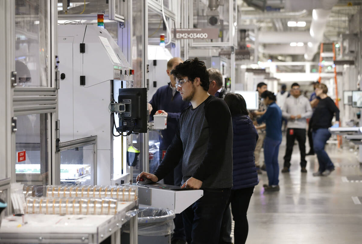
{"label": "dark curly hair of the foreground man in safety glasses", "polygon": [[207,72],[205,62],[200,61],[198,58],[188,59],[180,63],[171,70],[170,74],[173,75],[175,79],[183,79],[187,76],[191,83],[194,82],[196,77],[199,77],[203,90],[209,91],[209,73]]}

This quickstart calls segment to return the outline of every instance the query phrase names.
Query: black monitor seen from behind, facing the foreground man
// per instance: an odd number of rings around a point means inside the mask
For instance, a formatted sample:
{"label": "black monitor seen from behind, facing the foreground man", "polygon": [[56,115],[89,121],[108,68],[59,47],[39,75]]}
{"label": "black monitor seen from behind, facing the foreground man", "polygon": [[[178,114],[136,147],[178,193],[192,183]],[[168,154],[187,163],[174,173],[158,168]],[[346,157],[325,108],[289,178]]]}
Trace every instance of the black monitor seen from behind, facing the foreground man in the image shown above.
{"label": "black monitor seen from behind, facing the foreground man", "polygon": [[120,88],[119,132],[147,133],[147,88]]}

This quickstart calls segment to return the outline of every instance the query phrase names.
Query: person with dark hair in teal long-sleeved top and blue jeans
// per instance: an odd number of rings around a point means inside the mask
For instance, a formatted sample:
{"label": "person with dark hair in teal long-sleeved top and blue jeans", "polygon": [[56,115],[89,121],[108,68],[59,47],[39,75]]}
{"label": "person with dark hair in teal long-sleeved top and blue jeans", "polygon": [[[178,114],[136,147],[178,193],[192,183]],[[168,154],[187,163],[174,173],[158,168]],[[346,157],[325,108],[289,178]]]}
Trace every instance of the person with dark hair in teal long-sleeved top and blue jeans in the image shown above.
{"label": "person with dark hair in teal long-sleeved top and blue jeans", "polygon": [[277,98],[271,91],[261,94],[268,108],[264,115],[257,119],[261,124],[265,121],[266,135],[264,140],[264,160],[269,184],[264,184],[265,191],[279,191],[279,145],[282,142],[282,110],[275,103]]}

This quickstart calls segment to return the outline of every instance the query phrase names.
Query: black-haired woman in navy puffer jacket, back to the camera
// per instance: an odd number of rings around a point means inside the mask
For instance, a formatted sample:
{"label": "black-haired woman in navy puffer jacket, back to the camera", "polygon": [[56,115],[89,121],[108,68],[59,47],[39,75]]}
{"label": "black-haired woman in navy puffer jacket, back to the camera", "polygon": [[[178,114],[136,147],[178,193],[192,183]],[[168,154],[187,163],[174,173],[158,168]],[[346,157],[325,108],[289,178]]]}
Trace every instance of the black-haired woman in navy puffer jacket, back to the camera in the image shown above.
{"label": "black-haired woman in navy puffer jacket, back to the camera", "polygon": [[[247,211],[254,186],[259,183],[254,160],[254,149],[258,140],[258,133],[253,125],[253,121],[248,116],[249,112],[243,96],[229,93],[225,96],[224,100],[230,109],[232,117],[233,187],[229,204],[231,203],[231,212],[235,222],[234,243],[239,244],[245,243],[248,236]],[[230,222],[230,231],[228,233],[231,233],[229,204],[224,213],[222,226],[228,226],[228,222]],[[222,236],[225,236],[225,233],[227,233],[227,230],[221,231]],[[222,236],[220,236],[219,243],[229,243]]]}

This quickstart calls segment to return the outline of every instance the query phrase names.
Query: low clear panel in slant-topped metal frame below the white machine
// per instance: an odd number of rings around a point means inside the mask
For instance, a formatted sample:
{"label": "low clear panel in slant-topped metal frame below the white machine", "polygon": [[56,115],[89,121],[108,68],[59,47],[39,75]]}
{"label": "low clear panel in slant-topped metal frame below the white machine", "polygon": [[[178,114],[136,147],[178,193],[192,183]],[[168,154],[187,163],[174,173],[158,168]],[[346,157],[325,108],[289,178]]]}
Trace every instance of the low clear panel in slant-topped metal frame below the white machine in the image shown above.
{"label": "low clear panel in slant-topped metal frame below the white machine", "polygon": [[60,152],[60,184],[92,185],[94,144]]}

